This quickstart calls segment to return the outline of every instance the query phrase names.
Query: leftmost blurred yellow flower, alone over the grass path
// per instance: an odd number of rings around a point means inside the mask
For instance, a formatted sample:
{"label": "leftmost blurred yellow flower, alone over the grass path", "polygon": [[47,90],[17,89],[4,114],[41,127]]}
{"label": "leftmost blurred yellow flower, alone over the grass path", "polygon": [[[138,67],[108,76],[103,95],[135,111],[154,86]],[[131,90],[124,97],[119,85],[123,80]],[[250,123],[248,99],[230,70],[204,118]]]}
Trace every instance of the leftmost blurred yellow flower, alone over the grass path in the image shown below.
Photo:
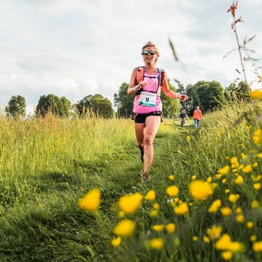
{"label": "leftmost blurred yellow flower, alone over the grass path", "polygon": [[83,196],[83,198],[79,199],[79,206],[89,212],[97,210],[101,202],[100,195],[101,193],[98,188],[90,190],[87,194],[85,194],[85,196]]}

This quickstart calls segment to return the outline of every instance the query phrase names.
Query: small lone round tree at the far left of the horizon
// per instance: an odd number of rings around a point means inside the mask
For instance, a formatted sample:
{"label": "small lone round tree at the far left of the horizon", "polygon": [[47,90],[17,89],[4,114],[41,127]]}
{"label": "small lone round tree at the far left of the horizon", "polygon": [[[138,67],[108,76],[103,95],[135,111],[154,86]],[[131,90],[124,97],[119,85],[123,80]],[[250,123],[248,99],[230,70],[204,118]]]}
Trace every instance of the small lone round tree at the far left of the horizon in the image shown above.
{"label": "small lone round tree at the far left of the horizon", "polygon": [[11,117],[25,117],[26,116],[26,99],[20,95],[12,96],[6,106],[5,111]]}

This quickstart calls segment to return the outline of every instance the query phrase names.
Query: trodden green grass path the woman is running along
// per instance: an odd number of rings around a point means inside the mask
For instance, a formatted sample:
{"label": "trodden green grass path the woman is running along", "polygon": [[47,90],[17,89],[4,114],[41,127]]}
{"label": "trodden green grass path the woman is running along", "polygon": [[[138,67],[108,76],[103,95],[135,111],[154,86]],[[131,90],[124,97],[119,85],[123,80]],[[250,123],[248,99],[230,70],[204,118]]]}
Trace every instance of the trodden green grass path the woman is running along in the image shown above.
{"label": "trodden green grass path the woman is running along", "polygon": [[[172,124],[163,122],[154,141],[148,183],[141,182],[142,165],[134,146],[111,161],[76,163],[68,172],[25,179],[25,192],[0,216],[0,261],[114,261],[108,252],[117,222],[115,203],[123,194],[157,189],[173,172],[174,151],[186,143],[186,135]],[[98,217],[77,206],[79,197],[92,188],[102,192]]]}

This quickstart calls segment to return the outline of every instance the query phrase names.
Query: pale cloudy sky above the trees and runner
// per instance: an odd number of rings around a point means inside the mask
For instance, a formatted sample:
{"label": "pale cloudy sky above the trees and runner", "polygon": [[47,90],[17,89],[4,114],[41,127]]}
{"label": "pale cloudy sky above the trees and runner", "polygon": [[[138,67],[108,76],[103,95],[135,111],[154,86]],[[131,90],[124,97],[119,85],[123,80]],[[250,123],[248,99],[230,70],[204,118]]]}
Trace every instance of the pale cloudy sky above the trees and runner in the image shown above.
{"label": "pale cloudy sky above the trees and runner", "polygon": [[[256,34],[248,48],[262,56],[260,2],[239,0],[236,17],[244,21],[237,25],[240,41]],[[175,86],[174,79],[226,87],[241,71],[237,51],[223,59],[237,48],[230,5],[232,0],[0,0],[0,106],[18,94],[28,113],[43,94],[72,103],[102,94],[113,103],[121,83],[143,66],[147,41],[159,48],[157,66]],[[251,63],[245,66],[252,89],[261,88]]]}

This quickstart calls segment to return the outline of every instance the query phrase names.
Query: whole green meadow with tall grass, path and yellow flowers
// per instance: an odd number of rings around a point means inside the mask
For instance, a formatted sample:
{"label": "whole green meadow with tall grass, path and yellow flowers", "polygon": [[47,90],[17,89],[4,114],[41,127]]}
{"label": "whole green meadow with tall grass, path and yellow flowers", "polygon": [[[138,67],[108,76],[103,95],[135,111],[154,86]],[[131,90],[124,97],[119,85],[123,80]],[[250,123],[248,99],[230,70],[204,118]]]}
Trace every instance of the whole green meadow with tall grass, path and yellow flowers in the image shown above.
{"label": "whole green meadow with tall grass, path and yellow flowers", "polygon": [[[206,114],[199,130],[166,119],[142,183],[129,119],[2,117],[0,261],[261,261],[260,118],[250,104]],[[101,205],[87,212],[78,201],[94,188]],[[134,231],[114,247],[124,219]]]}

